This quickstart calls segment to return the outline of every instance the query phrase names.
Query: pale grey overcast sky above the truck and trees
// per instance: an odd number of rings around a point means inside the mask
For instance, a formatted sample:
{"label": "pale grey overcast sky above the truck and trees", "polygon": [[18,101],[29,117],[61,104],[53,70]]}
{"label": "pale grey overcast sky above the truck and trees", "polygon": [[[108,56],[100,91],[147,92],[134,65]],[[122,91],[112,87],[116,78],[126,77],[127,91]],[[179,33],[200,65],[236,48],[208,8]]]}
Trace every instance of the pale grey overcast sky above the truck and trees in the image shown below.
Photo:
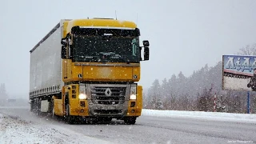
{"label": "pale grey overcast sky above the truck and trees", "polygon": [[[222,54],[256,42],[255,0],[0,0],[0,83],[8,94],[29,93],[29,51],[63,18],[136,22],[150,41],[140,84],[150,87],[180,71],[186,76]],[[28,96],[27,96],[28,98]]]}

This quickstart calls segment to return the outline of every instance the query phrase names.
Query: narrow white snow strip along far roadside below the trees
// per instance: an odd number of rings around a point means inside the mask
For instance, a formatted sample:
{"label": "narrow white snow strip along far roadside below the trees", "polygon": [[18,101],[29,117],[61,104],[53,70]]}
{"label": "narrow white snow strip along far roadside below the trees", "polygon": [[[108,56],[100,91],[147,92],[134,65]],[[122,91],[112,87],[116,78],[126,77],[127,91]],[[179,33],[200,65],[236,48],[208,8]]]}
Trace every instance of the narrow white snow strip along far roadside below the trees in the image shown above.
{"label": "narrow white snow strip along far roadside below the trees", "polygon": [[186,117],[186,118],[199,118],[199,119],[207,119],[207,120],[256,123],[256,114],[234,114],[234,113],[203,112],[203,111],[142,109],[142,115],[165,116],[165,117]]}

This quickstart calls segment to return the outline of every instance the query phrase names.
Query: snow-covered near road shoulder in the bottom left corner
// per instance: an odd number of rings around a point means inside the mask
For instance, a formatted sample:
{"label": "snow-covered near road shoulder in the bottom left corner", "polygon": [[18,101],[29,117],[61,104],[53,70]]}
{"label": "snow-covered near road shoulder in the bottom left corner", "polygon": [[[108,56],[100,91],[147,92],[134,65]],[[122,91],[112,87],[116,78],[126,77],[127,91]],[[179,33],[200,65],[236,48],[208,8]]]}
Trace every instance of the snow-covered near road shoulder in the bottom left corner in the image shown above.
{"label": "snow-covered near road shoulder in the bottom left corner", "polygon": [[97,138],[90,138],[74,131],[58,130],[42,126],[37,122],[26,122],[0,114],[0,143],[110,143]]}

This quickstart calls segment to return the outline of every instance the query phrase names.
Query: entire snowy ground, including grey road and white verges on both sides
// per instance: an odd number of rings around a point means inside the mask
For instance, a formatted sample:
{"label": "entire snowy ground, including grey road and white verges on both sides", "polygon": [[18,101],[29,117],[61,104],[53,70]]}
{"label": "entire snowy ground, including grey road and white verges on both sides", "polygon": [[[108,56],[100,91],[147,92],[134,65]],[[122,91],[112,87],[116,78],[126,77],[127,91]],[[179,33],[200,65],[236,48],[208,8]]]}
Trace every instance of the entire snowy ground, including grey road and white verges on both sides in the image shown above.
{"label": "entire snowy ground, including grey road and white verges on both sides", "polygon": [[131,126],[122,121],[68,125],[47,117],[38,118],[21,107],[0,107],[0,113],[0,143],[256,142],[254,114],[214,114],[212,118],[203,112],[143,110],[143,115]]}

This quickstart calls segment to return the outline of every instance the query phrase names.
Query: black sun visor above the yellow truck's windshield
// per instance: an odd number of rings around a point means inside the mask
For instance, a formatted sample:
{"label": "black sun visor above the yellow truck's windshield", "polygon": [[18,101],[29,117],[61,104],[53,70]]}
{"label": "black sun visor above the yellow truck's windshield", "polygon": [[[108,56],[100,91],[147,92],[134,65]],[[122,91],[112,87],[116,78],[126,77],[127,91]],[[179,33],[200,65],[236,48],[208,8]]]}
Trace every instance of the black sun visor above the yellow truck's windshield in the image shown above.
{"label": "black sun visor above the yellow truck's windshield", "polygon": [[126,27],[84,27],[74,26],[71,29],[72,34],[82,34],[90,36],[121,36],[121,37],[138,37],[140,36],[140,30],[138,28],[126,28]]}

